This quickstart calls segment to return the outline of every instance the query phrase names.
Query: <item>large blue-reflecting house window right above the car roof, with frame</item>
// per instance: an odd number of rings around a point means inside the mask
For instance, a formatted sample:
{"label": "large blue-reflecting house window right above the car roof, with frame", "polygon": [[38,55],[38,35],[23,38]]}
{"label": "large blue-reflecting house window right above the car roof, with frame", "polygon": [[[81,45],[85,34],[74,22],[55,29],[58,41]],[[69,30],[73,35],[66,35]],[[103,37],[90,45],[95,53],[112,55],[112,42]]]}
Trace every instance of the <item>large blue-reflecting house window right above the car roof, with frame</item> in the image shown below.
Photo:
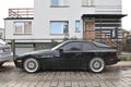
{"label": "large blue-reflecting house window right above the car roof, with frame", "polygon": [[50,22],[51,34],[68,34],[69,22]]}

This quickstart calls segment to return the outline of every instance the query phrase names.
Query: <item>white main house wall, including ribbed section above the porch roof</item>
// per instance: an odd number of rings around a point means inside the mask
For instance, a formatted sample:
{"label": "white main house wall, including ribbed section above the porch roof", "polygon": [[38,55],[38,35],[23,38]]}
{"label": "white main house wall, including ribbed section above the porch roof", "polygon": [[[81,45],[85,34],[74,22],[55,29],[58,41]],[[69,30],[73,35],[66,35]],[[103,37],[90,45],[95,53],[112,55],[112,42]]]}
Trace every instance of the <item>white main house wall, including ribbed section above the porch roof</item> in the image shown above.
{"label": "white main house wall, including ribbed section above the porch roof", "polygon": [[[95,7],[82,7],[82,0],[69,0],[69,8],[50,8],[50,1],[35,0],[34,37],[63,38],[64,35],[50,35],[50,21],[69,21],[70,37],[82,38],[83,14],[121,13],[121,0],[94,0]],[[75,34],[76,20],[81,21],[81,32]]]}

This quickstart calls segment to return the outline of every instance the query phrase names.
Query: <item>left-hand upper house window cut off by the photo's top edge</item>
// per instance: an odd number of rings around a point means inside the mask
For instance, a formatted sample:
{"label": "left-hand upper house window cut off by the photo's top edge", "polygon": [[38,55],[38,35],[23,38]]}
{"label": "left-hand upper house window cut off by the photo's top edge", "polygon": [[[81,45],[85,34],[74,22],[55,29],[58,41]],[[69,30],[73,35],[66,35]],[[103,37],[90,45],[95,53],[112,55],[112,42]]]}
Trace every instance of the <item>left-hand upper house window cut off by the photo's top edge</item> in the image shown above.
{"label": "left-hand upper house window cut off by the photo's top edge", "polygon": [[68,7],[69,0],[51,0],[51,7]]}

